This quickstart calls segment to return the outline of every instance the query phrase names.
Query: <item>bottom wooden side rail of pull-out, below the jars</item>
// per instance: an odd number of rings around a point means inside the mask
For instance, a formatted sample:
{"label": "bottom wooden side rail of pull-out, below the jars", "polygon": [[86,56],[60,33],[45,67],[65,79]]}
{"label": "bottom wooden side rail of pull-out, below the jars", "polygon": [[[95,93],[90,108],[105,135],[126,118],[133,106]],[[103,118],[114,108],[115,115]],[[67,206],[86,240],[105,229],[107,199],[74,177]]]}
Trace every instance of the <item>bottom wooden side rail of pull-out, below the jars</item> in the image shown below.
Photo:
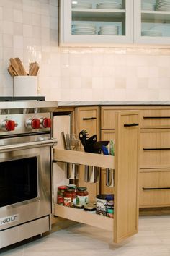
{"label": "bottom wooden side rail of pull-out, below the jars", "polygon": [[113,231],[114,219],[95,213],[86,213],[86,211],[54,204],[54,215],[62,218],[68,218],[71,221],[96,226],[100,229]]}

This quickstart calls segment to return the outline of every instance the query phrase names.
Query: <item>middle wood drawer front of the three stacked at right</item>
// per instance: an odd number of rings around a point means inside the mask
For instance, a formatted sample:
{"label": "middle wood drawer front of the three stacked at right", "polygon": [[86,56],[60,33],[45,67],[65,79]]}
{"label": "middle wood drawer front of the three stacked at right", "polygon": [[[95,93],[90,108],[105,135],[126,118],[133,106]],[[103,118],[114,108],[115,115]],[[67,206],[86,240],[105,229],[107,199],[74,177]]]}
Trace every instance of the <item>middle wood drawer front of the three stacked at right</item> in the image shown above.
{"label": "middle wood drawer front of the three stacked at right", "polygon": [[170,166],[170,131],[157,131],[140,132],[140,168]]}

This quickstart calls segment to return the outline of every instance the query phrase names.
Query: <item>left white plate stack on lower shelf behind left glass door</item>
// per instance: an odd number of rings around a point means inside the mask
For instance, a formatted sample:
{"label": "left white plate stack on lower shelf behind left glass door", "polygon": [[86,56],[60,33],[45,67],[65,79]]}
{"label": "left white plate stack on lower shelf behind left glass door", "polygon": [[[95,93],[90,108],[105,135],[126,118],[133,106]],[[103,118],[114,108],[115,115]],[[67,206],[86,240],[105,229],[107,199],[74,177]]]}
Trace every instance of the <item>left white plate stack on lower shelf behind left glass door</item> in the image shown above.
{"label": "left white plate stack on lower shelf behind left glass door", "polygon": [[96,25],[91,23],[76,23],[72,25],[72,35],[95,35]]}

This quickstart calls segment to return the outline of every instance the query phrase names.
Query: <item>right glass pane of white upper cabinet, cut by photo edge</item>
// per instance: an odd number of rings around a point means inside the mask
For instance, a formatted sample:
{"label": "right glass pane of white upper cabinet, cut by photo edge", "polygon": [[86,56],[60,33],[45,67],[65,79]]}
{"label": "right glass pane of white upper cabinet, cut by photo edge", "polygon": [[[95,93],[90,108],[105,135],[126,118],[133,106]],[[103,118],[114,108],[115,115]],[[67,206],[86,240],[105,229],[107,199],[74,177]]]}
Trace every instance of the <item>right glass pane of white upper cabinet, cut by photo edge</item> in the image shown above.
{"label": "right glass pane of white upper cabinet, cut by photo edge", "polygon": [[141,36],[170,37],[170,0],[141,1]]}

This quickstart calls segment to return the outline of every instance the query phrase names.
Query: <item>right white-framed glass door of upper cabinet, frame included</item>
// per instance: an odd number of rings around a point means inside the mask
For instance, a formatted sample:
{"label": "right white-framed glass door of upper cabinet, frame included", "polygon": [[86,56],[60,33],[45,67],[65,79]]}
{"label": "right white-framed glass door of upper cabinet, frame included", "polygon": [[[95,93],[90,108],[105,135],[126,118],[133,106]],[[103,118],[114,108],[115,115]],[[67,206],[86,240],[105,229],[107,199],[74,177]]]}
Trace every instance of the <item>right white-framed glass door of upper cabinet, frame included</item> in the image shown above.
{"label": "right white-framed glass door of upper cabinet, frame included", "polygon": [[170,43],[170,0],[134,0],[134,41]]}

